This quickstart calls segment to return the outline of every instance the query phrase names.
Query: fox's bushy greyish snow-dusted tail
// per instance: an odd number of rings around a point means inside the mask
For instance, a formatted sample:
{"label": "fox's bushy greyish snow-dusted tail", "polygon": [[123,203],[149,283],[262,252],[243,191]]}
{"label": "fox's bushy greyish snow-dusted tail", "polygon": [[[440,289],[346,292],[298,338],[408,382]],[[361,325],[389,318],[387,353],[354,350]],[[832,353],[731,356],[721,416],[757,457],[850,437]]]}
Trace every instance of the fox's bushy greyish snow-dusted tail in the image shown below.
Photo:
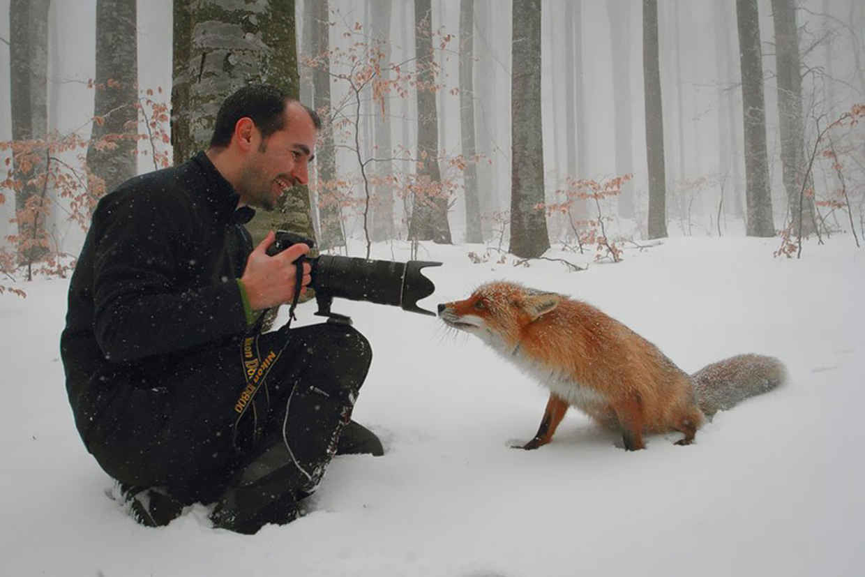
{"label": "fox's bushy greyish snow-dusted tail", "polygon": [[783,384],[787,369],[773,356],[737,355],[703,367],[691,379],[697,404],[711,418],[718,411]]}

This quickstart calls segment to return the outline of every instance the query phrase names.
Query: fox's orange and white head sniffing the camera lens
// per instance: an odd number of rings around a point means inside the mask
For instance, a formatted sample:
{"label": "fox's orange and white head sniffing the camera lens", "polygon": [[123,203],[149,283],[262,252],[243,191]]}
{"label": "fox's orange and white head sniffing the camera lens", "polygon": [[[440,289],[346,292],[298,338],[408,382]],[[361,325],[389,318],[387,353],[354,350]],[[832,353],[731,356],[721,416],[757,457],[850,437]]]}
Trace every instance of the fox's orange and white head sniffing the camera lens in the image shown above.
{"label": "fox's orange and white head sniffing the camera lens", "polygon": [[522,327],[553,311],[563,297],[510,282],[481,285],[471,297],[439,305],[448,326],[482,338],[494,347],[513,347]]}

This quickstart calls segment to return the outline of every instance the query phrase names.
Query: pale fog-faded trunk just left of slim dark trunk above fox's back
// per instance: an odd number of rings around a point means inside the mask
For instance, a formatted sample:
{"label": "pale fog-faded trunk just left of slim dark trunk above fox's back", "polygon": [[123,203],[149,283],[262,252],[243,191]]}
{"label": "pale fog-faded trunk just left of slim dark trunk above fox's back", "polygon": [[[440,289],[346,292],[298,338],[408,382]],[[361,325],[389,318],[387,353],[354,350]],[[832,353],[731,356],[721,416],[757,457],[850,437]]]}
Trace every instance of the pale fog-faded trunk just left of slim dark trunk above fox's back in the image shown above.
{"label": "pale fog-faded trunk just left of slim dark trunk above fox's back", "polygon": [[[616,175],[634,171],[631,123],[631,0],[609,0],[606,3],[610,18],[612,45],[612,118],[616,138]],[[631,182],[622,184],[618,195],[618,214],[634,217],[634,188]]]}

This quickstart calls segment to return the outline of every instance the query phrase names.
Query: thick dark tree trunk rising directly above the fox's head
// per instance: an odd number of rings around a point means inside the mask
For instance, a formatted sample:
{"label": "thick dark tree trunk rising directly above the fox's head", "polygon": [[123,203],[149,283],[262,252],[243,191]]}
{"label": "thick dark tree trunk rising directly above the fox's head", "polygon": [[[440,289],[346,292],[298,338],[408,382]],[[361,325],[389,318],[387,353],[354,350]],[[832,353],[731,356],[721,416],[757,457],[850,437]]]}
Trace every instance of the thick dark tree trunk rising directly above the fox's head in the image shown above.
{"label": "thick dark tree trunk rising directly above the fox's head", "polygon": [[510,248],[536,258],[549,248],[541,135],[541,0],[513,1]]}

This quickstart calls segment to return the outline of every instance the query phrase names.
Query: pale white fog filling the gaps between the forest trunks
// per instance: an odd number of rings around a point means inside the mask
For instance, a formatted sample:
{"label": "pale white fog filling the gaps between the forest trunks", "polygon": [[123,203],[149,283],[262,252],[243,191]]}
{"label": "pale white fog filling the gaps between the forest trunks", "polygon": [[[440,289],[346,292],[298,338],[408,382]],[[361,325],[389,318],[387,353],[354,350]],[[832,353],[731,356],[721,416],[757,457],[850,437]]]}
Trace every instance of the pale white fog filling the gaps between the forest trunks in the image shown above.
{"label": "pale white fog filling the gaps between the forest trunks", "polygon": [[[12,3],[14,5],[16,2]],[[17,3],[20,4],[20,3]],[[387,4],[389,17],[382,18]],[[471,5],[471,35],[461,35],[461,3],[433,0],[432,48],[435,66],[435,112],[438,131],[438,164],[442,182],[438,194],[445,196],[447,225],[452,241],[466,240],[466,164],[477,170],[478,210],[483,241],[507,247],[511,210],[511,183],[515,147],[512,146],[511,79],[513,62],[512,4],[475,0]],[[522,6],[519,3],[517,7]],[[530,6],[532,3],[525,3]],[[740,34],[736,2],[729,0],[660,0],[657,2],[658,67],[663,104],[663,184],[661,193],[667,234],[746,234],[746,162],[743,134]],[[746,4],[746,2],[740,2]],[[785,190],[782,162],[782,131],[779,130],[779,75],[776,74],[776,42],[773,5],[784,2],[760,0],[759,39],[762,52],[763,95],[768,190],[771,194],[772,226],[781,231],[791,224],[790,193]],[[794,2],[798,32],[801,119],[798,141],[798,183],[803,181],[810,157],[809,173],[813,198],[817,201],[818,228],[849,230],[851,222],[862,231],[865,160],[862,129],[848,123],[834,132],[836,157],[843,165],[836,170],[825,151],[823,139],[815,147],[819,131],[857,103],[865,102],[865,5],[858,0],[809,0]],[[553,246],[580,244],[580,234],[605,221],[606,234],[619,242],[645,240],[649,217],[650,186],[647,168],[646,99],[644,98],[644,10],[643,3],[567,2],[548,0],[541,5],[541,135],[542,194],[550,210],[548,239]],[[300,97],[311,99],[311,24],[314,4],[295,3],[296,40]],[[10,106],[10,0],[0,2],[0,140],[12,138]],[[330,0],[325,44],[330,52],[330,110],[336,144],[336,175],[339,181],[339,226],[349,237],[362,237],[363,198],[366,194],[358,158],[370,161],[368,173],[375,198],[387,194],[393,202],[386,208],[373,204],[390,222],[374,240],[408,238],[412,180],[418,156],[417,75],[405,83],[393,81],[388,92],[375,98],[373,85],[358,94],[356,107],[348,83],[340,77],[351,67],[351,56],[368,58],[371,48],[387,48],[377,63],[394,79],[392,65],[410,73],[417,61],[414,3],[383,3]],[[516,7],[515,7],[516,8]],[[66,138],[77,133],[90,138],[94,116],[95,0],[51,2],[48,8],[47,133]],[[308,10],[309,9],[309,10]],[[138,91],[142,99],[170,106],[172,86],[172,4],[166,0],[138,2]],[[465,30],[462,32],[465,33]],[[304,36],[305,35],[305,36]],[[465,37],[471,49],[471,91],[474,121],[474,152],[465,154],[465,130],[461,118],[460,54]],[[353,53],[352,51],[356,51]],[[312,59],[312,60],[311,60]],[[356,72],[356,70],[355,70]],[[410,75],[410,74],[409,74]],[[465,81],[465,80],[464,80]],[[148,91],[152,91],[152,94]],[[142,100],[144,101],[144,100]],[[464,100],[465,102],[465,100]],[[313,104],[313,102],[308,102]],[[148,106],[151,106],[148,108]],[[144,134],[144,114],[138,112],[139,133]],[[341,107],[337,107],[341,106]],[[536,107],[536,105],[533,105]],[[357,108],[357,109],[356,109]],[[384,112],[382,114],[382,112]],[[351,125],[357,120],[356,127]],[[167,123],[163,123],[167,131]],[[354,131],[357,131],[355,135]],[[355,136],[360,151],[353,150]],[[385,146],[389,147],[385,150]],[[814,149],[812,151],[812,149]],[[70,174],[80,174],[85,148],[60,151]],[[163,139],[138,140],[137,170],[153,170],[154,152],[171,158],[170,144]],[[532,154],[537,151],[518,151]],[[0,151],[10,169],[8,147]],[[842,160],[843,157],[843,160]],[[176,160],[176,159],[175,159]],[[11,173],[10,173],[11,174]],[[568,178],[609,182],[632,175],[614,187],[611,196],[567,200]],[[397,175],[392,181],[382,178]],[[402,175],[402,176],[400,176]],[[840,178],[846,201],[838,196]],[[533,178],[536,185],[540,185]],[[413,184],[414,183],[414,184]],[[7,185],[9,182],[7,182]],[[810,183],[811,184],[811,183]],[[412,187],[415,186],[415,189]],[[51,188],[51,187],[48,187]],[[320,232],[321,196],[311,188],[312,211]],[[811,186],[804,187],[811,198]],[[320,191],[319,191],[320,192]],[[16,202],[11,189],[3,189],[0,233],[16,234],[10,222]],[[48,196],[51,193],[48,191]],[[52,198],[48,235],[61,252],[77,254],[84,229],[67,218],[68,201]],[[847,206],[842,206],[846,202]],[[554,210],[554,205],[560,210]],[[387,219],[386,219],[387,220]],[[594,224],[593,224],[594,223]],[[599,231],[598,231],[599,232]],[[385,236],[381,236],[384,234]],[[766,235],[766,234],[764,234]],[[587,237],[586,237],[587,238]],[[585,238],[583,239],[585,240]],[[4,240],[8,246],[8,242]]]}

